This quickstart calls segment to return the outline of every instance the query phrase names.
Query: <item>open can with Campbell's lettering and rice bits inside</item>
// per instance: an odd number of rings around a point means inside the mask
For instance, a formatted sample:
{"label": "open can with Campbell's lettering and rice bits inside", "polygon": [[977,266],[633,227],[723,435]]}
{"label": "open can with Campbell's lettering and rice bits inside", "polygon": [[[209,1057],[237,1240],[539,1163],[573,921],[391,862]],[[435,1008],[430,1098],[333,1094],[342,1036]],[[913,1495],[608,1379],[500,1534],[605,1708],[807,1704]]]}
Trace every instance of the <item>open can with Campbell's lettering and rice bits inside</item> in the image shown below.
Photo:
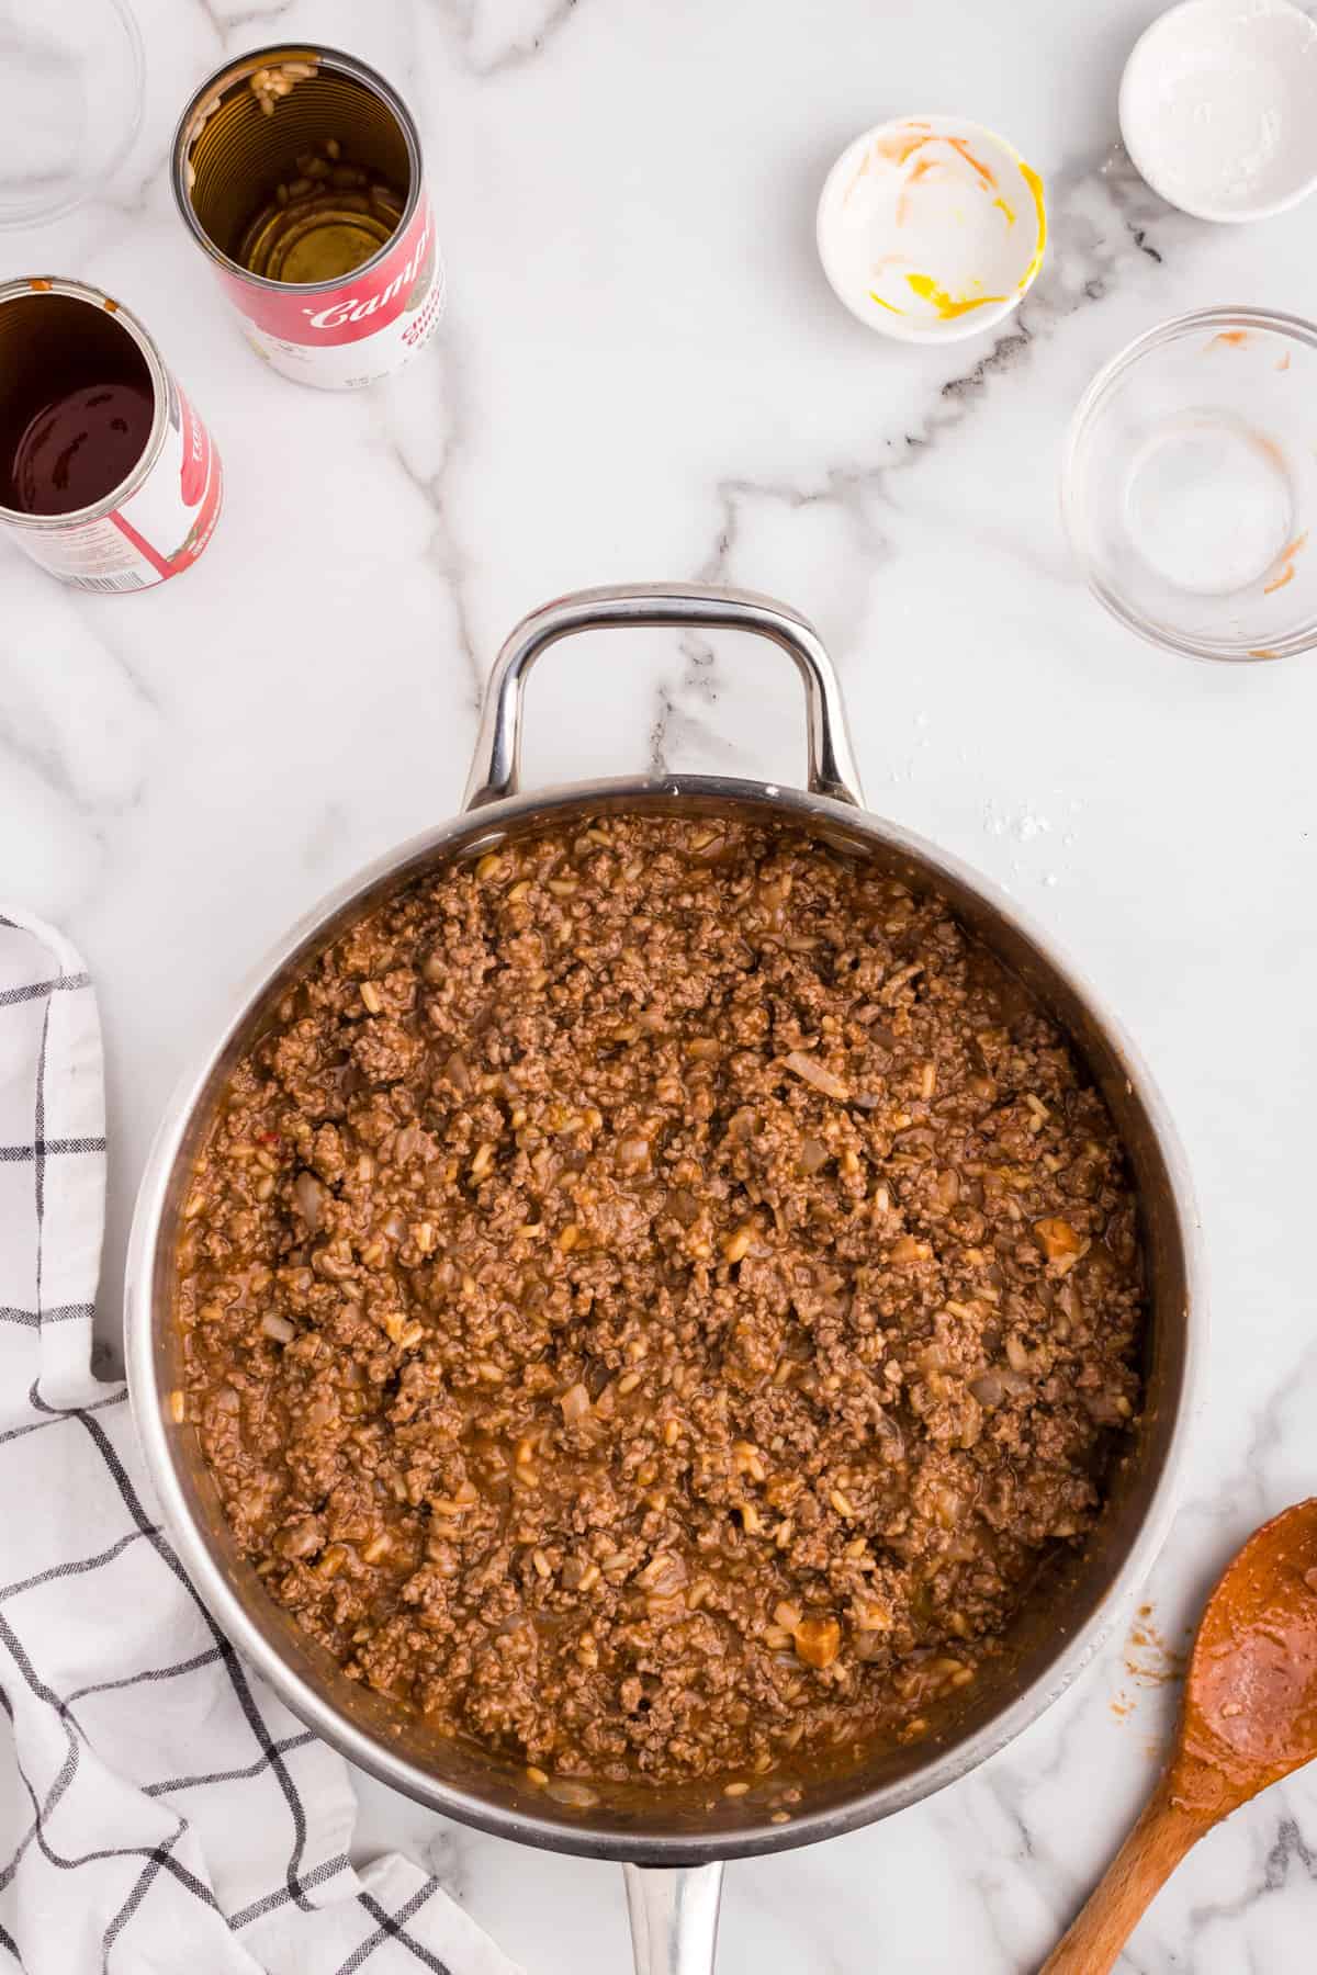
{"label": "open can with Campbell's lettering and rice bits inside", "polygon": [[172,184],[280,375],[349,391],[434,332],[444,265],[417,122],[353,55],[280,43],[225,63],[178,122]]}

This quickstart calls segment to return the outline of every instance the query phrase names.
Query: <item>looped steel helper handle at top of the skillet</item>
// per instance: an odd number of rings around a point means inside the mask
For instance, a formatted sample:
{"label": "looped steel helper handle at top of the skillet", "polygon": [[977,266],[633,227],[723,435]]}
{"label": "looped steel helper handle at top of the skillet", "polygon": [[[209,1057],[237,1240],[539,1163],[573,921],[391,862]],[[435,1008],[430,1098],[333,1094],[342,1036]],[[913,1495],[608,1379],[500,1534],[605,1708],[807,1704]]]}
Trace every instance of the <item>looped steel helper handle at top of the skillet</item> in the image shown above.
{"label": "looped steel helper handle at top of the skillet", "polygon": [[810,790],[859,806],[859,774],[841,687],[813,624],[788,604],[756,596],[752,591],[723,591],[709,583],[622,583],[559,596],[531,610],[511,632],[494,660],[486,687],[476,758],[462,808],[480,810],[486,802],[515,796],[521,766],[521,697],[539,654],[579,630],[616,630],[632,624],[750,630],[780,646],[794,660],[806,687]]}

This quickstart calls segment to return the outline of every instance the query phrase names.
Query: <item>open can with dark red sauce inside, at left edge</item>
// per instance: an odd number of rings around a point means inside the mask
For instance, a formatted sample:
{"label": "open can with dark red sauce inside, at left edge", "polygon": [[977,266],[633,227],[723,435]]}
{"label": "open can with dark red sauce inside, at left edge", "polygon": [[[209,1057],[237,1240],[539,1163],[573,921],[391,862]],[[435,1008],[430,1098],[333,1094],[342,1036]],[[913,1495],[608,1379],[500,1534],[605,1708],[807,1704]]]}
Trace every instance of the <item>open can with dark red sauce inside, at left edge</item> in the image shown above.
{"label": "open can with dark red sauce inside, at left edge", "polygon": [[81,280],[0,284],[0,531],[79,591],[148,591],[211,539],[223,470],[154,340]]}

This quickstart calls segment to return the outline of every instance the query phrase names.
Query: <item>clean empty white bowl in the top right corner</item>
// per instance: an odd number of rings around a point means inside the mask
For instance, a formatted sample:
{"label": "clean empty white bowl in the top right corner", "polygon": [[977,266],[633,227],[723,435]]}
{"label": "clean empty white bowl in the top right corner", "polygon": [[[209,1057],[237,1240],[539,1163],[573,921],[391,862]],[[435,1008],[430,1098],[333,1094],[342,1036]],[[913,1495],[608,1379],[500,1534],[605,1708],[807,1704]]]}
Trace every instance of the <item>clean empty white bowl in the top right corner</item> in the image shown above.
{"label": "clean empty white bowl in the top right corner", "polygon": [[1317,186],[1317,22],[1289,0],[1185,0],[1133,43],[1120,134],[1195,219],[1266,219]]}

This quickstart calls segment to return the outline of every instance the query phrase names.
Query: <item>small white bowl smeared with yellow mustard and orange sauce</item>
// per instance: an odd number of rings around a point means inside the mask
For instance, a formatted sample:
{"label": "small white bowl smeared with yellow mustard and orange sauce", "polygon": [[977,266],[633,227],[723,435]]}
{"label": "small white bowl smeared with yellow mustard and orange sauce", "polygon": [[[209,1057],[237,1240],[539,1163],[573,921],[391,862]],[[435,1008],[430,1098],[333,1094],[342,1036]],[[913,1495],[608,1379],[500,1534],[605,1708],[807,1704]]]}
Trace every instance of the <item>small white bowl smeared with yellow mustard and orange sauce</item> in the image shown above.
{"label": "small white bowl smeared with yellow mustard and orange sauce", "polygon": [[950,344],[1009,316],[1043,267],[1043,180],[964,117],[900,117],[841,152],[817,213],[819,261],[871,330]]}

